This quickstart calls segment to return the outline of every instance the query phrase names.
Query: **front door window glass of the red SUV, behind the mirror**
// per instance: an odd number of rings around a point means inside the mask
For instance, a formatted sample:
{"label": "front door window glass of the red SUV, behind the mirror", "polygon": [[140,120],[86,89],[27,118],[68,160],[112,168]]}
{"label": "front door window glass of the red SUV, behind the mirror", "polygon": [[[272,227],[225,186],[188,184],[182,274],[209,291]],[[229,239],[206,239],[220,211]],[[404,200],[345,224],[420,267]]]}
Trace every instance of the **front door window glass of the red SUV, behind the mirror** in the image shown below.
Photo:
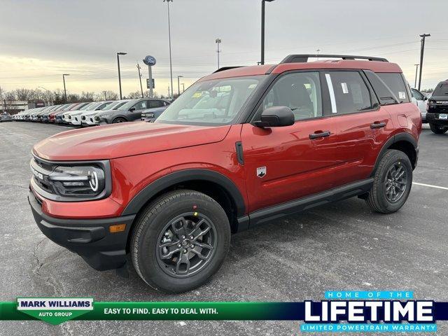
{"label": "front door window glass of the red SUV, behind the mirror", "polygon": [[318,72],[289,73],[276,81],[262,102],[262,109],[288,106],[295,120],[322,116],[321,83]]}

